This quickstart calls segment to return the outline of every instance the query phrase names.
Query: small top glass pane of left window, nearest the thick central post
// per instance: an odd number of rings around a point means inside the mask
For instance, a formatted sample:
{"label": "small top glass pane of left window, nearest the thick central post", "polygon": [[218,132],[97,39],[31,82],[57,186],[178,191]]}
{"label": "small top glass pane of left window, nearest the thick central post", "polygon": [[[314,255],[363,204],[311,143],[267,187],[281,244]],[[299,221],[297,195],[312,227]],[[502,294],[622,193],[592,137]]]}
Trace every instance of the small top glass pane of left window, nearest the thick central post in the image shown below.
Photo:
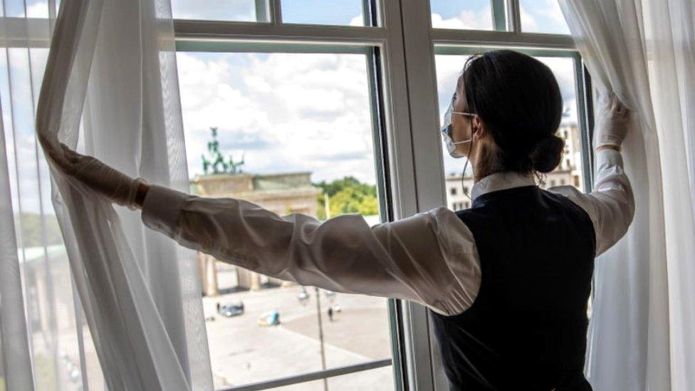
{"label": "small top glass pane of left window, nearest the thick central post", "polygon": [[288,0],[282,14],[284,23],[365,26],[362,0]]}

